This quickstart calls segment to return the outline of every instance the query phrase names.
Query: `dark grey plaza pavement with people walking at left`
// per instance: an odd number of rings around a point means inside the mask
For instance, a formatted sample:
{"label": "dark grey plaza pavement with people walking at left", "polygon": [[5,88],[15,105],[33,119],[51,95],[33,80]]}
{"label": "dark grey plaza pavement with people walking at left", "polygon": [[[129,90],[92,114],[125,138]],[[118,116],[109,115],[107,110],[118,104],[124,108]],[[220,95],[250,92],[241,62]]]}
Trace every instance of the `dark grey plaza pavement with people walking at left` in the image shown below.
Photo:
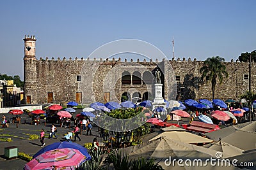
{"label": "dark grey plaza pavement with people walking at left", "polygon": [[[6,118],[10,118],[10,114],[5,114]],[[2,116],[0,114],[0,116]],[[11,115],[13,116],[13,115]],[[6,142],[6,141],[0,141],[0,169],[23,169],[24,165],[27,163],[24,160],[21,160],[19,158],[17,159],[6,159],[4,158],[4,148],[8,146],[17,146],[18,152],[24,152],[26,154],[29,154],[33,156],[36,152],[38,152],[42,147],[40,146],[40,140],[34,139],[29,140],[29,135],[31,134],[40,134],[40,129],[44,129],[45,131],[45,146],[51,145],[54,142],[59,142],[63,138],[63,134],[67,133],[68,131],[72,131],[73,128],[65,128],[60,127],[60,125],[56,125],[58,132],[56,133],[57,139],[49,139],[47,138],[49,136],[50,132],[50,126],[51,124],[44,124],[44,120],[42,120],[41,124],[39,125],[31,125],[31,118],[28,117],[28,115],[20,115],[21,122],[18,124],[10,124],[8,128],[3,128],[1,126],[0,128],[0,138],[12,138],[12,142]],[[24,120],[26,120],[27,124],[24,124]],[[72,122],[71,127],[73,127],[74,124]],[[98,128],[96,126],[92,127],[92,136],[86,136],[86,132],[82,132],[82,134],[79,136],[81,138],[81,141],[76,141],[79,145],[84,145],[84,143],[92,143],[93,138],[97,138],[99,142],[102,141],[102,138],[99,138],[99,132],[97,131]],[[9,136],[8,136],[9,135]],[[74,139],[74,136],[73,136]]]}

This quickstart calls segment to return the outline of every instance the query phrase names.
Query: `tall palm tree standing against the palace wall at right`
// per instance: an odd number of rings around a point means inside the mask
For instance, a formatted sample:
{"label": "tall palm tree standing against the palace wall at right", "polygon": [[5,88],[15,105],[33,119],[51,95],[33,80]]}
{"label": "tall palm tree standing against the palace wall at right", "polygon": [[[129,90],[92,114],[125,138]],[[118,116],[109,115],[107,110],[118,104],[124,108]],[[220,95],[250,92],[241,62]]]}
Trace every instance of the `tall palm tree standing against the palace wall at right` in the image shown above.
{"label": "tall palm tree standing against the palace wall at right", "polygon": [[212,100],[214,99],[214,92],[217,80],[219,80],[221,83],[223,80],[223,76],[225,76],[226,78],[228,77],[226,66],[223,64],[224,61],[225,59],[219,56],[207,58],[204,61],[204,66],[200,68],[200,73],[202,73],[202,80],[204,80],[204,78],[206,77],[209,77],[209,80],[211,80]]}

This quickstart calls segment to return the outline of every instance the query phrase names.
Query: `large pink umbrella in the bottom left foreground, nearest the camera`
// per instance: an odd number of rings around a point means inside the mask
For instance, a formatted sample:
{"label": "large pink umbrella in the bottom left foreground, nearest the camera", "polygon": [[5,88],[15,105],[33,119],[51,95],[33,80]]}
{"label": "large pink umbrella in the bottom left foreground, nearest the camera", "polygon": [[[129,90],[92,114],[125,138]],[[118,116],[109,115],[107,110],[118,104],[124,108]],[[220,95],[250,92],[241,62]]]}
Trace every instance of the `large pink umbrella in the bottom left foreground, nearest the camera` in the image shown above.
{"label": "large pink umbrella in the bottom left foreground, nearest the camera", "polygon": [[26,170],[36,169],[76,169],[86,157],[79,150],[61,148],[49,150],[32,159],[25,165]]}

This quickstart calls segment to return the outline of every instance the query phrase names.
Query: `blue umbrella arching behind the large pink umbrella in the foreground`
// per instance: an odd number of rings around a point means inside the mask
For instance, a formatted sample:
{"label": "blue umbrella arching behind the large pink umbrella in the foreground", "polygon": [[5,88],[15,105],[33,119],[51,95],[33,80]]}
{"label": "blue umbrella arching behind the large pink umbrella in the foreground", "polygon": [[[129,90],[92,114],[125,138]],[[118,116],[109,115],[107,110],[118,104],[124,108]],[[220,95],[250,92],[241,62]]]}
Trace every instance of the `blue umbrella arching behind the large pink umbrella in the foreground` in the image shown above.
{"label": "blue umbrella arching behind the large pink umbrella in the foreground", "polygon": [[90,160],[92,157],[87,152],[87,148],[84,148],[83,146],[77,144],[77,143],[70,143],[70,142],[56,142],[52,143],[51,145],[47,145],[41,150],[39,150],[35,155],[33,155],[33,159],[37,157],[38,155],[41,155],[44,152],[47,152],[49,150],[55,150],[60,148],[73,148],[79,150],[81,153],[83,153],[84,156],[86,156],[86,160]]}

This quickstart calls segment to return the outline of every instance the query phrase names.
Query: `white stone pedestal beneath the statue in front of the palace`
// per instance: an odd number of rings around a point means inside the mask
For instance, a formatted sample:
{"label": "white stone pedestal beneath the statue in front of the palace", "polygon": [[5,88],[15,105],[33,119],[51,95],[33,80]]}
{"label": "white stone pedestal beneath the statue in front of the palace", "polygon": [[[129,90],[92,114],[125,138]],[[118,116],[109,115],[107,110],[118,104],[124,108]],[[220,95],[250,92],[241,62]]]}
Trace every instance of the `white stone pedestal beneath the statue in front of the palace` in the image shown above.
{"label": "white stone pedestal beneath the statue in front of the palace", "polygon": [[155,84],[155,98],[154,102],[152,103],[152,110],[157,108],[158,106],[163,107],[164,110],[166,110],[166,103],[164,102],[164,99],[162,97],[162,84]]}

